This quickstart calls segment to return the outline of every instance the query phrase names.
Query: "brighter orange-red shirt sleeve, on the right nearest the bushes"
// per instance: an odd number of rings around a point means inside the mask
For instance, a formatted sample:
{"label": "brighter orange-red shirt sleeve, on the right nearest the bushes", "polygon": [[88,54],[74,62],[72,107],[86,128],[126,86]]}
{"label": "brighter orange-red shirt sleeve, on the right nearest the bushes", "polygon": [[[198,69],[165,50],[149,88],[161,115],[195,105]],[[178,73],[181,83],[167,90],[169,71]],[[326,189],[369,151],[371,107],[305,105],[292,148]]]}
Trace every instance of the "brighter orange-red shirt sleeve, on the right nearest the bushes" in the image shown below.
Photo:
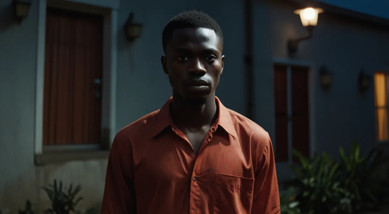
{"label": "brighter orange-red shirt sleeve, on the right nearest the bushes", "polygon": [[251,213],[279,214],[280,196],[270,137],[267,138],[262,148],[263,151],[258,156]]}

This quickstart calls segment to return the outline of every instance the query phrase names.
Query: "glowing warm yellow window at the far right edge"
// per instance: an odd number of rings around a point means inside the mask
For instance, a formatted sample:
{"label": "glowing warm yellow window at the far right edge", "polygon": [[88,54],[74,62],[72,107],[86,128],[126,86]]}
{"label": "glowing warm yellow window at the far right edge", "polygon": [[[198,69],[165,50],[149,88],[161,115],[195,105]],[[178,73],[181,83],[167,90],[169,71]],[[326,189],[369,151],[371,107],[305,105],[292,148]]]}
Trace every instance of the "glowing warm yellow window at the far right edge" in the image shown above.
{"label": "glowing warm yellow window at the far right edge", "polygon": [[389,74],[374,74],[375,116],[378,140],[389,140],[388,136],[388,95]]}

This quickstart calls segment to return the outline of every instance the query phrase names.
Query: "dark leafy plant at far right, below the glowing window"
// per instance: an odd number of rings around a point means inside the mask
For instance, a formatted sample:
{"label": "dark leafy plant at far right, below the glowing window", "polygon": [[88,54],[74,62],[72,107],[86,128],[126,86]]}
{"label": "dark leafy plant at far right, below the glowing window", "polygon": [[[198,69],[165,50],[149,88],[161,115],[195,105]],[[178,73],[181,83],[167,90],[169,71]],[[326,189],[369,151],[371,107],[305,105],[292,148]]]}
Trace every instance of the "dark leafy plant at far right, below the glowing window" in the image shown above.
{"label": "dark leafy plant at far right, below the glowing window", "polygon": [[378,169],[382,165],[382,150],[373,149],[368,156],[360,157],[361,146],[353,142],[350,156],[347,157],[344,149],[339,147],[342,162],[342,185],[349,192],[353,211],[369,210],[377,208],[383,198],[383,188],[387,179],[377,176]]}

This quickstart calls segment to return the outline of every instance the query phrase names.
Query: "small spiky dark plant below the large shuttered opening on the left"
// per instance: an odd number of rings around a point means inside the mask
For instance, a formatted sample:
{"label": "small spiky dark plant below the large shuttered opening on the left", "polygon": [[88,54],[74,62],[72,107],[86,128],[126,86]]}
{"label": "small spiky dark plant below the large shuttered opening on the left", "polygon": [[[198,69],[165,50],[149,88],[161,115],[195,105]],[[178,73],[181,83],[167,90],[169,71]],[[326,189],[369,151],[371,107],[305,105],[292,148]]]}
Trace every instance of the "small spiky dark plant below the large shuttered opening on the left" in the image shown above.
{"label": "small spiky dark plant below the large shuttered opening on the left", "polygon": [[54,180],[53,185],[49,184],[48,188],[43,187],[43,189],[52,203],[51,208],[45,210],[46,214],[69,214],[71,211],[75,212],[75,207],[82,200],[82,197],[76,197],[81,191],[81,185],[77,185],[73,189],[72,184],[70,184],[67,191],[65,191],[62,181],[57,186],[57,180]]}

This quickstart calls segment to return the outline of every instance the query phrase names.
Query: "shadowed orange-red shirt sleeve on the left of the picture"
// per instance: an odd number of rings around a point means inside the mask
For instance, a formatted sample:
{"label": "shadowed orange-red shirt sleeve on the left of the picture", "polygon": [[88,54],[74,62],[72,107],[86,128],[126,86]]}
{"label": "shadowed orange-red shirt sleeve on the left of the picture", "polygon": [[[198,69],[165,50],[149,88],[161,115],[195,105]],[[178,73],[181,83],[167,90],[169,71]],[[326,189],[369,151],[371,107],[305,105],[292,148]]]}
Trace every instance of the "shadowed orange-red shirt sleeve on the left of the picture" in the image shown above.
{"label": "shadowed orange-red shirt sleeve on the left of the picture", "polygon": [[136,210],[131,143],[119,132],[109,153],[101,214],[135,214]]}

